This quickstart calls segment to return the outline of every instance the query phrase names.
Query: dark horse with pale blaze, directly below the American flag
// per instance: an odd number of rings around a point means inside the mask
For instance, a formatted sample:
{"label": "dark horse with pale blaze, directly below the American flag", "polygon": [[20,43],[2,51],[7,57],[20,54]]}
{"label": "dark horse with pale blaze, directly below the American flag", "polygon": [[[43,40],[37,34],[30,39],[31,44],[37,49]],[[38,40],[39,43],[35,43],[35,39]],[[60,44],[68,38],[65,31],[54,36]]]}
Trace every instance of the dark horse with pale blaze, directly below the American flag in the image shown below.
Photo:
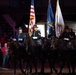
{"label": "dark horse with pale blaze, directly below the American flag", "polygon": [[26,43],[26,62],[27,62],[27,68],[30,66],[30,73],[32,73],[32,65],[35,67],[35,72],[37,73],[37,57],[36,57],[36,48],[35,43],[33,39],[26,35],[25,37],[25,43]]}

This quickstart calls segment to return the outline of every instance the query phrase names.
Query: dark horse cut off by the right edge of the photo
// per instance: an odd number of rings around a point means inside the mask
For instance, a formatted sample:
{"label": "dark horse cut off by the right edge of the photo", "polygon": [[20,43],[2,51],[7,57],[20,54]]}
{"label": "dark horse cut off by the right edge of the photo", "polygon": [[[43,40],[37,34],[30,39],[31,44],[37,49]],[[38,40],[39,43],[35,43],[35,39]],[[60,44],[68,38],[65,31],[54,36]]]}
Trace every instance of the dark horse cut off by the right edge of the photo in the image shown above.
{"label": "dark horse cut off by the right edge of the photo", "polygon": [[72,73],[75,73],[75,65],[76,65],[76,39],[71,40],[71,50],[69,53],[69,58],[70,58],[70,64],[72,66]]}

